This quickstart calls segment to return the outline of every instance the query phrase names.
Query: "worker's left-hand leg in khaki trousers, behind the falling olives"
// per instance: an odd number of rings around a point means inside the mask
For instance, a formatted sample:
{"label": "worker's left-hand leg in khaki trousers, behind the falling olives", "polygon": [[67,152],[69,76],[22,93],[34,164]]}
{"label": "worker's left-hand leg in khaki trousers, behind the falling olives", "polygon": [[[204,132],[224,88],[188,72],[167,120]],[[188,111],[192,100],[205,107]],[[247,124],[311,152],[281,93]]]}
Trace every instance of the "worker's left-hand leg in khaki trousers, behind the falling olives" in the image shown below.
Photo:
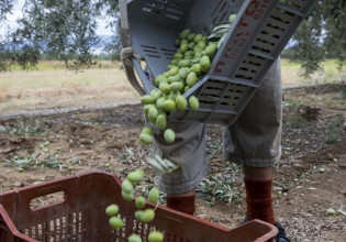
{"label": "worker's left-hand leg in khaki trousers, behind the falling olives", "polygon": [[208,172],[205,164],[205,124],[169,123],[176,132],[172,144],[165,142],[163,134],[155,136],[155,152],[179,165],[179,168],[164,174],[159,188],[167,194],[169,208],[193,215],[194,188]]}

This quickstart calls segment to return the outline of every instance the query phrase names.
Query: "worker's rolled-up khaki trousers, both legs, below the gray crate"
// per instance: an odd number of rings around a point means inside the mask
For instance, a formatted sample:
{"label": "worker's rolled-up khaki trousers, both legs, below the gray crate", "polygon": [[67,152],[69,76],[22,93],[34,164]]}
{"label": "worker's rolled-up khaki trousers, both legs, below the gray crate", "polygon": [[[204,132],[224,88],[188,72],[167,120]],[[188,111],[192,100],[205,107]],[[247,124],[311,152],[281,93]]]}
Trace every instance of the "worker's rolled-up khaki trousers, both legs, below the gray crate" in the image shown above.
{"label": "worker's rolled-up khaki trousers, both legs, below the gray crate", "polygon": [[[280,59],[277,59],[260,87],[236,122],[223,130],[223,154],[253,167],[270,167],[281,155],[282,90]],[[155,136],[155,152],[179,168],[160,177],[159,187],[166,194],[182,194],[196,188],[208,173],[205,163],[205,130],[203,123],[169,123],[176,142],[167,144],[163,135]]]}

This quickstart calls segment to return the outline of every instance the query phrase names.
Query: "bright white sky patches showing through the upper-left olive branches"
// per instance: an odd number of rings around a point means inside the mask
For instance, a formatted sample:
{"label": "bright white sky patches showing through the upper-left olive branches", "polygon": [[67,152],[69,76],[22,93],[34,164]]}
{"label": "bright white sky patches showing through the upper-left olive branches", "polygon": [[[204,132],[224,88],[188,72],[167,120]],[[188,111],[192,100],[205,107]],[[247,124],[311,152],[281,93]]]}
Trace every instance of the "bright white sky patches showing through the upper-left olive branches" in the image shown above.
{"label": "bright white sky patches showing through the upper-left olive branches", "polygon": [[[7,25],[9,25],[11,29],[18,28],[16,20],[23,16],[22,8],[24,6],[24,2],[25,0],[15,0],[15,4],[12,9],[12,14],[8,14],[7,21],[0,24],[0,35],[4,35]],[[112,35],[111,31],[105,28],[104,21],[98,21],[98,35]]]}

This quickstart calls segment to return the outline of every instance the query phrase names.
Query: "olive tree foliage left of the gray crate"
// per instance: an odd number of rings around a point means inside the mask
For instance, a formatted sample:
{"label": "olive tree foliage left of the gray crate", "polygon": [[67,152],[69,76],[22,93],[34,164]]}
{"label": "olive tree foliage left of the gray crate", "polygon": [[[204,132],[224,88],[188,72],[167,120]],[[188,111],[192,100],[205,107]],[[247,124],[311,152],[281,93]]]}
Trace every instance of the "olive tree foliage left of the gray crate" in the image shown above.
{"label": "olive tree foliage left of the gray crate", "polygon": [[[7,1],[12,6],[13,0]],[[115,34],[118,12],[114,0],[25,0],[19,28],[2,37],[0,70],[13,64],[30,68],[42,54],[70,68],[90,66],[101,42],[97,20],[108,21]]]}

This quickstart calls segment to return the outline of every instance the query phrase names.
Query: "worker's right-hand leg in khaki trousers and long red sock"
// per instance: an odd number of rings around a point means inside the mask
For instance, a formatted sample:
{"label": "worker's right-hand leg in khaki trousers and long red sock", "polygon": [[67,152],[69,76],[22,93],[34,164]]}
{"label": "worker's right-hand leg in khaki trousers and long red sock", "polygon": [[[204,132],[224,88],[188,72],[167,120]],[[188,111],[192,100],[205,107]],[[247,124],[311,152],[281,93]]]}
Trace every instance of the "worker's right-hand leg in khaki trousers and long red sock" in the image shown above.
{"label": "worker's right-hand leg in khaki trousers and long red sock", "polygon": [[224,129],[224,155],[243,164],[247,218],[275,223],[271,167],[281,155],[282,91],[277,61],[237,121]]}

